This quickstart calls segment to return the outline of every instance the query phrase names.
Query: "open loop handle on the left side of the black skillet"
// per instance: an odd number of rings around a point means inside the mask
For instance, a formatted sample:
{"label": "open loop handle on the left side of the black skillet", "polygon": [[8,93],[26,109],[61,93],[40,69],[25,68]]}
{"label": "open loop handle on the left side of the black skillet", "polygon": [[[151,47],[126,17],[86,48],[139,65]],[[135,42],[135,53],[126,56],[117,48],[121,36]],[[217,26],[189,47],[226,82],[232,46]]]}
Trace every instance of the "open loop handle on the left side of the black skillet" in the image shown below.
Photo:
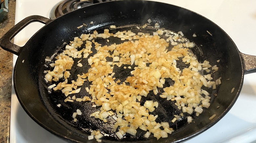
{"label": "open loop handle on the left side of the black skillet", "polygon": [[1,48],[19,56],[24,46],[20,47],[18,45],[13,44],[11,42],[11,39],[16,34],[18,34],[23,28],[25,28],[28,24],[31,24],[32,22],[40,22],[43,24],[48,24],[51,21],[52,20],[40,15],[32,15],[24,18],[22,21],[14,25],[8,32],[6,32],[6,34],[0,39]]}

